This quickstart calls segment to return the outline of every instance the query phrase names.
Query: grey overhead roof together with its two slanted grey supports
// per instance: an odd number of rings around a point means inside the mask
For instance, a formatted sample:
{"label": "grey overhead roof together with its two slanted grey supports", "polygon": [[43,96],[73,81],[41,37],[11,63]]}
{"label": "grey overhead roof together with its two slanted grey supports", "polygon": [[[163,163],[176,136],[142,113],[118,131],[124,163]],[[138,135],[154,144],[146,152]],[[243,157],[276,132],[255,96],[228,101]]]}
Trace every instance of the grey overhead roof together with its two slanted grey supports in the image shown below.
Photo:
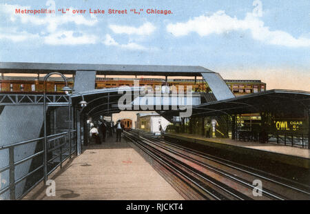
{"label": "grey overhead roof together with its two slanted grey supports", "polygon": [[2,73],[39,73],[60,72],[64,75],[75,75],[74,89],[86,91],[95,89],[96,75],[160,75],[200,77],[205,79],[217,100],[233,98],[222,77],[216,72],[201,66],[141,66],[110,64],[43,64],[0,62]]}

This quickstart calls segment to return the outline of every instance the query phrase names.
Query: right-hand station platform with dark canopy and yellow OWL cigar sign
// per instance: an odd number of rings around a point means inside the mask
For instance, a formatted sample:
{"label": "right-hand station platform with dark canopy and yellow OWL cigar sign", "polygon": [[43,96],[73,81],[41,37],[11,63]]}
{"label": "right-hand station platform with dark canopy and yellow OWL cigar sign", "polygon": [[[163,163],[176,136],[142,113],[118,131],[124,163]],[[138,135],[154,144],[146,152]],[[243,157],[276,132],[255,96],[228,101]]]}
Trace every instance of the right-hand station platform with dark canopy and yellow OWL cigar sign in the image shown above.
{"label": "right-hand station platform with dark canopy and yellow OWL cigar sign", "polygon": [[[225,138],[207,138],[203,135],[174,134],[174,132],[165,134],[165,137],[194,144],[203,144],[211,148],[223,149],[227,153],[234,152],[241,155],[254,155],[261,159],[269,159],[271,161],[309,169],[309,137],[305,137],[309,136],[309,108],[307,107],[309,106],[309,95],[309,92],[305,91],[267,90],[265,92],[235,97],[234,99],[211,101],[200,106],[193,106],[191,119],[198,118],[196,122],[198,120],[201,121],[204,117],[209,118],[209,120],[217,118],[219,115],[224,115],[223,117],[226,118],[231,117],[231,121],[229,119],[225,120],[227,124],[221,124],[221,126],[227,126],[225,129],[227,133]],[[279,104],[281,105],[279,106]],[[172,118],[178,116],[179,111],[169,111],[163,115]],[[256,130],[258,133],[265,132],[267,136],[273,136],[273,139],[277,137],[280,139],[280,135],[291,135],[290,140],[285,141],[286,145],[259,143],[258,139],[255,140],[256,142],[240,141],[240,133],[237,134],[238,132],[236,131],[238,129],[236,117],[251,113],[260,113],[261,120],[259,121],[258,130]],[[302,121],[302,126],[299,129],[298,127],[294,128],[293,125],[288,125],[296,123],[296,121]],[[277,124],[281,122],[287,126],[284,128],[278,126]],[[234,134],[234,136],[231,136],[232,139],[228,137],[229,123],[231,124],[231,134]],[[204,128],[204,125],[198,128]],[[239,131],[241,131],[241,128],[239,128]],[[303,137],[298,138],[300,136]],[[297,143],[298,139],[302,139],[302,144],[300,142]],[[299,147],[289,146],[290,144]]]}

